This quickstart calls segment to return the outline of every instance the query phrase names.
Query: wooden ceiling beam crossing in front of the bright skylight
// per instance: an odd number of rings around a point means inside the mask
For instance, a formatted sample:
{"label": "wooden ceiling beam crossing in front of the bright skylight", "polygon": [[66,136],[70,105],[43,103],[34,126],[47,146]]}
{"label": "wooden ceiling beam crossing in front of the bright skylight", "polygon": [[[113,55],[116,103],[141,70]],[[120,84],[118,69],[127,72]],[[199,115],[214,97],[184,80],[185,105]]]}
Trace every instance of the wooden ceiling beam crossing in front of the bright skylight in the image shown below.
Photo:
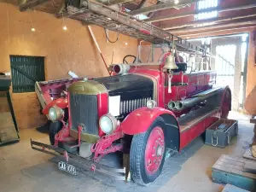
{"label": "wooden ceiling beam crossing in front of the bright skylight", "polygon": [[[256,3],[253,4],[247,4],[247,5],[242,5],[242,6],[236,6],[236,7],[230,7],[230,8],[223,8],[223,9],[212,9],[212,10],[218,10],[218,13],[225,12],[225,11],[234,11],[234,10],[241,10],[241,9],[251,9],[251,8],[256,8]],[[183,17],[189,17],[189,16],[195,16],[197,13],[195,11],[186,13],[186,14],[180,14],[180,15],[163,15],[163,16],[158,16],[154,18],[149,18],[146,20],[143,20],[145,22],[156,22],[156,21],[161,21],[161,20],[175,20],[178,18],[183,18]]]}

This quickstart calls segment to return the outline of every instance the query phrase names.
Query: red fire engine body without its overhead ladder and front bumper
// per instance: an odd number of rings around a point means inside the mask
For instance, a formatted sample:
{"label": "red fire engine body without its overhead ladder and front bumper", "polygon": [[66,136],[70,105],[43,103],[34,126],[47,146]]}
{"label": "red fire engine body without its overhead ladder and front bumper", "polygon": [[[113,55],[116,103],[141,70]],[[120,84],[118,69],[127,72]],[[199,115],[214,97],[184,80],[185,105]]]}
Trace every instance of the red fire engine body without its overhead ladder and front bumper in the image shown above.
{"label": "red fire engine body without its overhead ladder and front bumper", "polygon": [[[66,96],[44,108],[53,121],[53,146],[32,141],[33,148],[62,148],[94,166],[104,155],[123,151],[130,154],[132,179],[152,183],[166,148],[181,151],[230,111],[230,88],[214,87],[215,72],[186,73],[187,64],[175,60],[169,52],[160,62],[113,65],[113,76],[71,84]],[[61,167],[75,172],[67,162]]]}

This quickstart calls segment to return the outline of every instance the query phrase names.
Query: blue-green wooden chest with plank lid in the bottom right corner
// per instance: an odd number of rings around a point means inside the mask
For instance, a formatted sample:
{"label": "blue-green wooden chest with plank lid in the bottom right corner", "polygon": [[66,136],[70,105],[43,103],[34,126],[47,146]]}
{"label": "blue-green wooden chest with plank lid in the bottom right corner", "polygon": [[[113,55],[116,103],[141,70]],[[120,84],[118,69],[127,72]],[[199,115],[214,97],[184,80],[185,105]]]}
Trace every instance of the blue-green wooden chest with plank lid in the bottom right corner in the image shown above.
{"label": "blue-green wooden chest with plank lid in the bottom right corner", "polygon": [[[256,174],[245,172],[247,160],[240,157],[221,155],[212,166],[212,181],[215,183],[230,183],[241,189],[253,191],[255,189]],[[254,162],[254,161],[253,161]]]}

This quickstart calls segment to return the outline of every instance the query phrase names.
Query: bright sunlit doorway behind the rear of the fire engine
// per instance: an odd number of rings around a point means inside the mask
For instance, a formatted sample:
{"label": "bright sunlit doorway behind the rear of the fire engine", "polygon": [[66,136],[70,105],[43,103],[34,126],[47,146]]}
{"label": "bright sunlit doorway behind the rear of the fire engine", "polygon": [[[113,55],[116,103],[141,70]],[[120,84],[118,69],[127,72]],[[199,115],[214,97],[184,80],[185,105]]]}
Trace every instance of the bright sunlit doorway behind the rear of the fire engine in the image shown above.
{"label": "bright sunlit doorway behind the rear of the fire engine", "polygon": [[217,71],[219,86],[230,86],[232,91],[232,110],[243,110],[247,83],[248,34],[190,40],[200,46],[206,44],[215,59],[211,59],[211,69]]}

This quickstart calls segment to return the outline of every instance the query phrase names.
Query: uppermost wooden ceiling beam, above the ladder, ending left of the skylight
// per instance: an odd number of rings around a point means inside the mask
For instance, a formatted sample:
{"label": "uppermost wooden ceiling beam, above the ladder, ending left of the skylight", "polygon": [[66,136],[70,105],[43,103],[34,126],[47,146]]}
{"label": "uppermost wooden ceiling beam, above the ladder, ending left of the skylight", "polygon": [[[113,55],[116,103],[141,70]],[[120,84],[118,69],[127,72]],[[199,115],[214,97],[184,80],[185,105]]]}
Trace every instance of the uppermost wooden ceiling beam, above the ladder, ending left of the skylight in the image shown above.
{"label": "uppermost wooden ceiling beam, above the ladder, ending left of the skylight", "polygon": [[191,4],[191,3],[196,3],[199,1],[201,1],[201,0],[179,0],[178,4],[175,4],[174,1],[172,1],[170,3],[160,3],[160,4],[155,4],[153,6],[145,7],[142,9],[132,10],[130,12],[127,12],[127,14],[128,15],[148,14],[149,12],[152,12],[152,11],[159,11],[159,10],[163,10],[163,9],[181,7],[181,6],[185,6],[185,5]]}

